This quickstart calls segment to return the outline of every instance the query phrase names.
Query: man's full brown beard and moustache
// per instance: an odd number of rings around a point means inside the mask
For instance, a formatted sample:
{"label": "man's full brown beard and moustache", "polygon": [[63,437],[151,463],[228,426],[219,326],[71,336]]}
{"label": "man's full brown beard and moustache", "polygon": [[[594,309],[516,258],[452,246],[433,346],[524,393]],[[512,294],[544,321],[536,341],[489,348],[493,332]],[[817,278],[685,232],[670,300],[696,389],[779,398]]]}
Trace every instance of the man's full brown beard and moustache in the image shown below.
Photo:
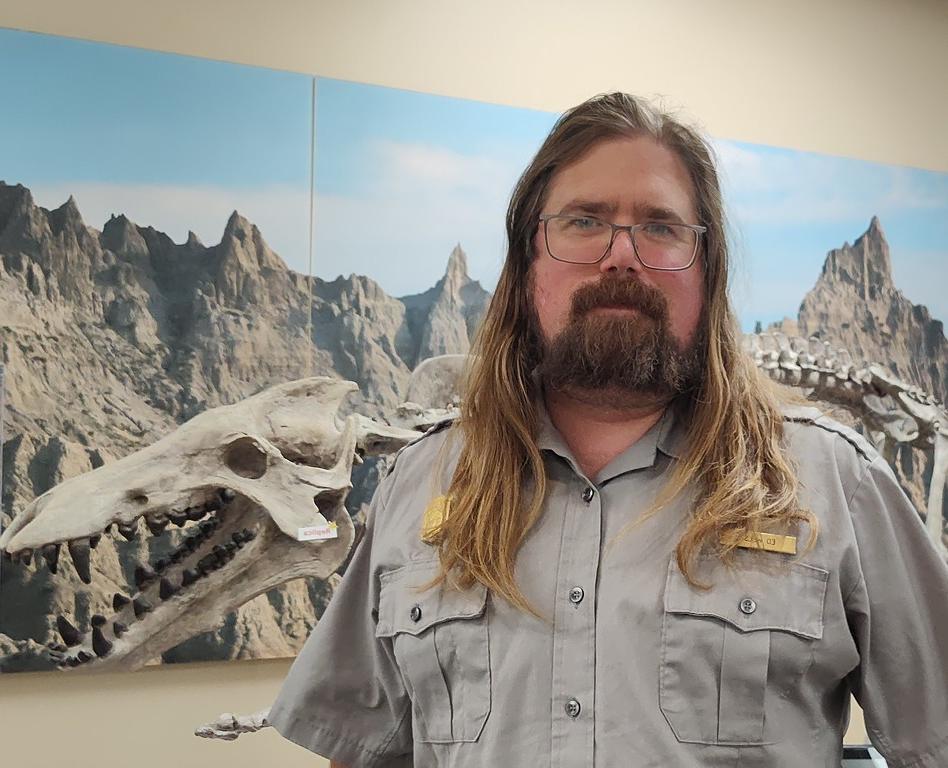
{"label": "man's full brown beard and moustache", "polygon": [[[536,323],[536,312],[531,314]],[[582,286],[573,294],[566,327],[552,339],[537,335],[544,387],[594,405],[670,402],[698,387],[705,365],[703,324],[690,342],[679,343],[665,297],[634,278],[603,277]]]}

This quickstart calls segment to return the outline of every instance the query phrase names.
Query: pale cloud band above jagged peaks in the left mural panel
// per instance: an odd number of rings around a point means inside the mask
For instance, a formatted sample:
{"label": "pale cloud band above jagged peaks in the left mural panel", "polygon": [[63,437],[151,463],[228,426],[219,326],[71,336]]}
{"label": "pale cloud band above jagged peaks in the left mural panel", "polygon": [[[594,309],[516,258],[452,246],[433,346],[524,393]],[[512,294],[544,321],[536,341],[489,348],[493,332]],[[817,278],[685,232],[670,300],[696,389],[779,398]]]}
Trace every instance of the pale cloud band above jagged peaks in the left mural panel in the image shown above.
{"label": "pale cloud band above jagged peaks in the left mural panel", "polygon": [[236,210],[256,224],[264,239],[291,269],[309,269],[309,193],[305,187],[180,186],[108,182],[61,182],[30,187],[44,208],[76,198],[86,224],[97,229],[124,213],[139,226],[151,226],[182,243],[193,230],[205,245],[216,245]]}

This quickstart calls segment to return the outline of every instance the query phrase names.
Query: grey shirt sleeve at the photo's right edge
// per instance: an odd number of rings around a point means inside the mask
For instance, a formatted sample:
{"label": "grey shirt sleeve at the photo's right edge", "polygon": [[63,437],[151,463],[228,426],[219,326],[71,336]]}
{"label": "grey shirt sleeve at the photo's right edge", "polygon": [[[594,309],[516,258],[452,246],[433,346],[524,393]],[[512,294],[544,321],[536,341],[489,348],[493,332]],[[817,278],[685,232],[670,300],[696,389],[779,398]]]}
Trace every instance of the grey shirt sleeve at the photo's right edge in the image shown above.
{"label": "grey shirt sleeve at the photo's right edge", "polygon": [[876,458],[850,510],[862,578],[847,599],[860,664],[850,676],[890,768],[948,766],[948,568]]}

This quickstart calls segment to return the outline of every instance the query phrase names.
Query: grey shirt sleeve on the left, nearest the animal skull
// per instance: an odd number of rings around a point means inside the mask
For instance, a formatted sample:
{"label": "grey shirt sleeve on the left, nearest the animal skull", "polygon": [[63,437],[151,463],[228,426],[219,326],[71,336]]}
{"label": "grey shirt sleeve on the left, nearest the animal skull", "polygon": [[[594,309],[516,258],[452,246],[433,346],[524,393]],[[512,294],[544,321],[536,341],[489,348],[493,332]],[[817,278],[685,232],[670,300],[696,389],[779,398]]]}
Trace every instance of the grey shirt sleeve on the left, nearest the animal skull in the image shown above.
{"label": "grey shirt sleeve on the left, nearest the animal skull", "polygon": [[391,639],[375,636],[373,538],[391,485],[391,475],[379,485],[365,535],[268,717],[290,741],[350,768],[412,765],[411,702]]}

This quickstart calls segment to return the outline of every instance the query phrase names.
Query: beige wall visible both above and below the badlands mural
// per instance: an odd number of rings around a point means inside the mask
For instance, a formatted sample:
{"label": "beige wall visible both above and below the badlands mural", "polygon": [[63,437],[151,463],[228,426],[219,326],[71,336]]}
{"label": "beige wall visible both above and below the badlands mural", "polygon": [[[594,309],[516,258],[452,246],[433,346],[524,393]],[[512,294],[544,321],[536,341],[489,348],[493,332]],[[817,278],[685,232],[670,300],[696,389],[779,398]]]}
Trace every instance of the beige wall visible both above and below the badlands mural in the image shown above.
{"label": "beige wall visible both above and below the badlands mural", "polygon": [[[2,0],[0,26],[549,110],[661,94],[719,137],[948,171],[944,0]],[[273,733],[190,735],[267,705],[287,667],[5,676],[0,755],[319,765]]]}

